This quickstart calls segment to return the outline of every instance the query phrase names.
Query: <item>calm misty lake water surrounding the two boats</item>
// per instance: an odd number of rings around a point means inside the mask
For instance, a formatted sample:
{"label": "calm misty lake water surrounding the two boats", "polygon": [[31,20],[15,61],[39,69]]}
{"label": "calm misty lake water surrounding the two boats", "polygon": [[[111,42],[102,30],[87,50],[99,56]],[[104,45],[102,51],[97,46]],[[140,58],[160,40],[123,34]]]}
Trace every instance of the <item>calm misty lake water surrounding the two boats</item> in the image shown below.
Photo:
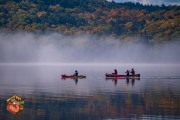
{"label": "calm misty lake water surrounding the two boats", "polygon": [[[140,80],[106,80],[134,68]],[[87,75],[61,79],[61,74]],[[12,114],[6,99],[24,99]],[[0,120],[180,119],[179,65],[0,65]]]}

